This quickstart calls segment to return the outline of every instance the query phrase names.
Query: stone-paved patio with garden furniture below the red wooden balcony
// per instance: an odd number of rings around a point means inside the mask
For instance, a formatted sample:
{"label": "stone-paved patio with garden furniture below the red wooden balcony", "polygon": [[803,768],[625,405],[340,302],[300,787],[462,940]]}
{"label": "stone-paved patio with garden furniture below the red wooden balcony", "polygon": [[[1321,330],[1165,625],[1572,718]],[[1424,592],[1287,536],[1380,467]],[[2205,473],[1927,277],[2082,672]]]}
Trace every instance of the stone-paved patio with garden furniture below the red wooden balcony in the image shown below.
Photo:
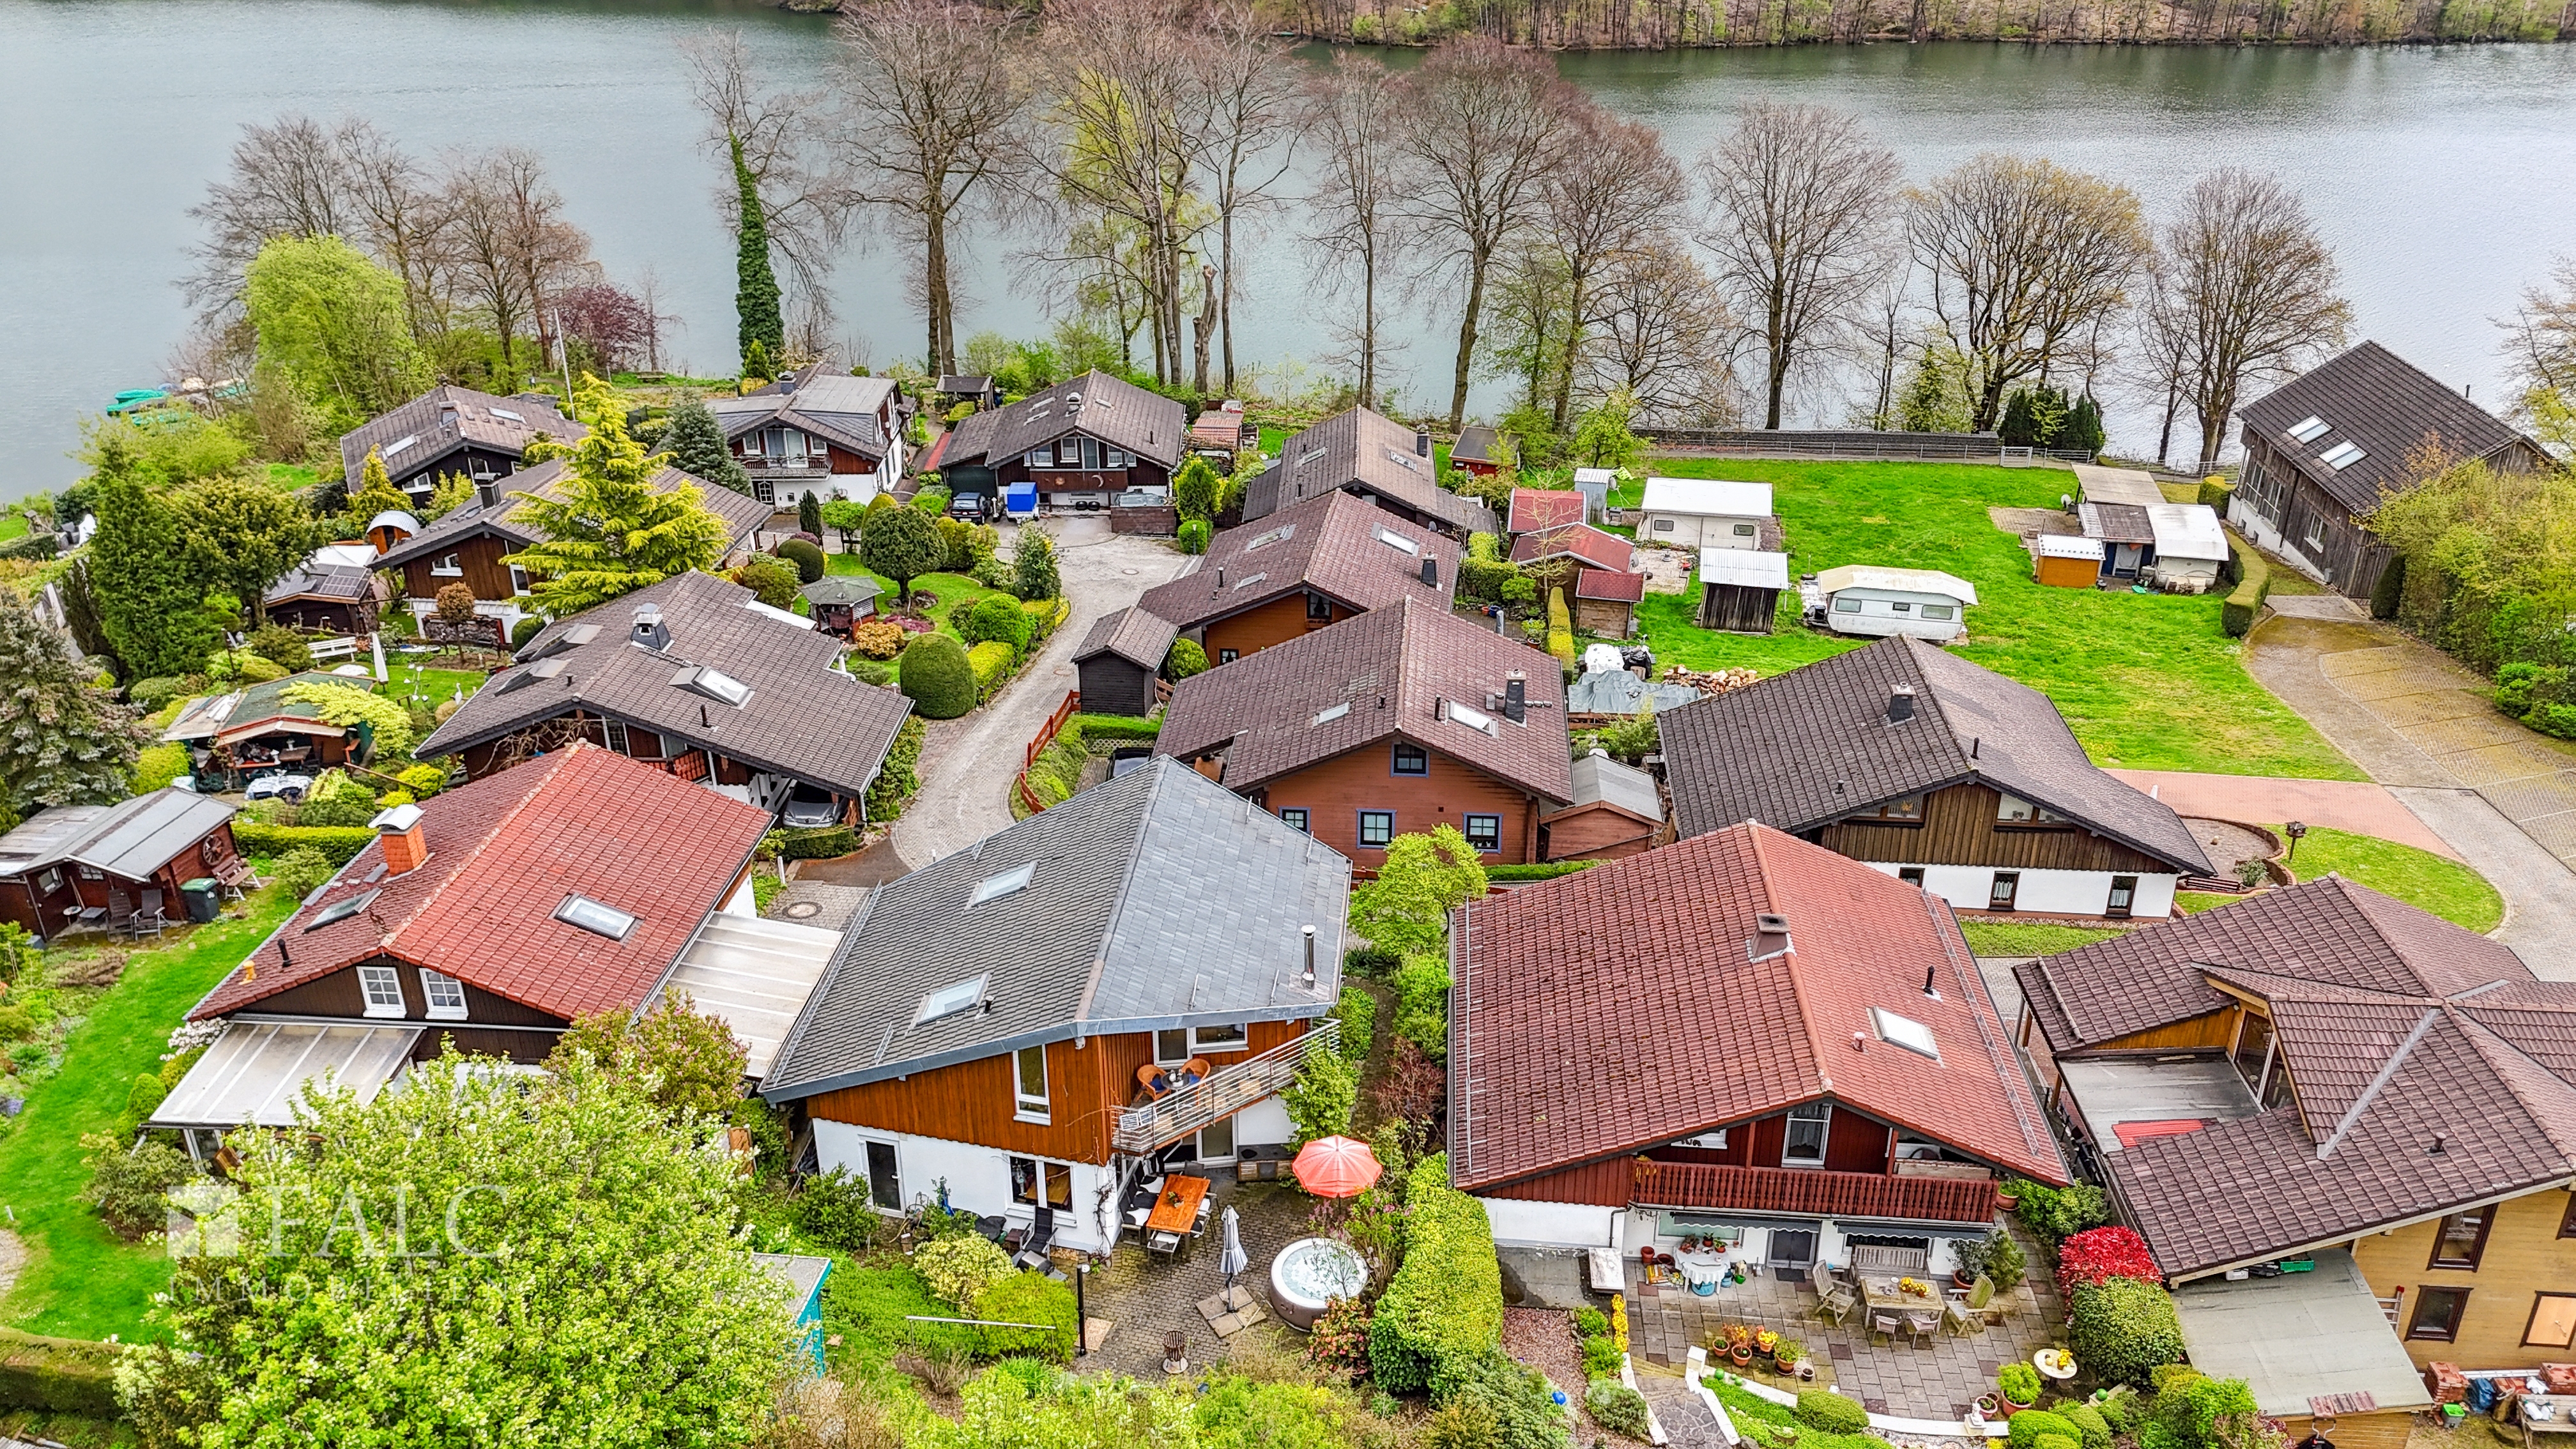
{"label": "stone-paved patio with garden furniture below the red wooden balcony", "polygon": [[[2045,1261],[2027,1232],[2012,1232],[2032,1263]],[[1628,1346],[1649,1364],[1680,1369],[1692,1343],[1705,1343],[1723,1323],[1775,1328],[1806,1343],[1816,1385],[1839,1387],[1870,1413],[1958,1418],[1994,1390],[1994,1374],[2004,1364],[2066,1341],[2066,1307],[2048,1279],[2025,1279],[1994,1302],[2004,1310],[2004,1323],[1984,1333],[1937,1333],[1927,1346],[1899,1336],[1891,1346],[1873,1341],[1860,1310],[1839,1325],[1816,1318],[1816,1289],[1803,1276],[1780,1281],[1765,1271],[1710,1297],[1682,1284],[1631,1281]]]}

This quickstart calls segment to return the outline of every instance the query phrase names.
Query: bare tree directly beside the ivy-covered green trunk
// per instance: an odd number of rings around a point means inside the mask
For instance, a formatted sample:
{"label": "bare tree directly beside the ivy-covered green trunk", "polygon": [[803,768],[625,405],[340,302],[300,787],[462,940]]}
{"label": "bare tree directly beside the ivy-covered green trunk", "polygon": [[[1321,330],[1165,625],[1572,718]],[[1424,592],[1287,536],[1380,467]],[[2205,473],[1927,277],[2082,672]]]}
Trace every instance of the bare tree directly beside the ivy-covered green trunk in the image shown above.
{"label": "bare tree directly beside the ivy-covered green trunk", "polygon": [[770,248],[788,263],[796,351],[832,330],[832,263],[840,253],[850,196],[832,175],[822,90],[762,90],[739,31],[680,41],[688,57],[690,98],[706,113],[701,150],[724,157],[714,188],[724,227],[742,224],[742,188],[734,183],[734,144],[760,191],[760,219]]}

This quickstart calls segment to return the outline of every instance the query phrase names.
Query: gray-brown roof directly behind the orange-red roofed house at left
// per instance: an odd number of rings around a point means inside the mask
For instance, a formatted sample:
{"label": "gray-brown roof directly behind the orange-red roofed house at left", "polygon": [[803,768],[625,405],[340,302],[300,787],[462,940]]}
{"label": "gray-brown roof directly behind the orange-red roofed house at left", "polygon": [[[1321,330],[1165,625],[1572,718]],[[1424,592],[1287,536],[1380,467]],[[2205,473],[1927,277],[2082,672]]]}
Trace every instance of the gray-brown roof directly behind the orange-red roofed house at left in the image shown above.
{"label": "gray-brown roof directly behind the orange-red roofed house at left", "polygon": [[[484,681],[417,753],[464,750],[567,709],[587,709],[835,794],[866,794],[912,701],[837,670],[840,639],[832,634],[747,608],[750,601],[752,590],[739,583],[683,572],[556,619],[518,652],[520,668]],[[647,603],[662,608],[667,650],[629,642],[634,614]],[[598,634],[556,647],[577,627],[595,627]],[[554,678],[528,673],[554,660],[562,660]],[[732,706],[683,688],[672,681],[685,665],[716,668],[752,694]]]}

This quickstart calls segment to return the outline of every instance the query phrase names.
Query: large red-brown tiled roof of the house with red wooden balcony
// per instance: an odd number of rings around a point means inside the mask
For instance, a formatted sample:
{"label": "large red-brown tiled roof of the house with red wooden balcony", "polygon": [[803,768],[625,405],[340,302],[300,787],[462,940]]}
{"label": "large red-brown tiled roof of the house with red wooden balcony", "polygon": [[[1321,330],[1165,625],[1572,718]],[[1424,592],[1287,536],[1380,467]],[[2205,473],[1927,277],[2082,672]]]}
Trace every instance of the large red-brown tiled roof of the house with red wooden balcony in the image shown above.
{"label": "large red-brown tiled roof of the house with red wooden balcony", "polygon": [[[1788,918],[1788,951],[1747,959],[1757,915]],[[1860,861],[1739,825],[1484,897],[1453,926],[1458,1186],[1816,1098],[2066,1181],[1950,908]],[[1878,1039],[1870,1008],[1927,1026],[1940,1060]]]}

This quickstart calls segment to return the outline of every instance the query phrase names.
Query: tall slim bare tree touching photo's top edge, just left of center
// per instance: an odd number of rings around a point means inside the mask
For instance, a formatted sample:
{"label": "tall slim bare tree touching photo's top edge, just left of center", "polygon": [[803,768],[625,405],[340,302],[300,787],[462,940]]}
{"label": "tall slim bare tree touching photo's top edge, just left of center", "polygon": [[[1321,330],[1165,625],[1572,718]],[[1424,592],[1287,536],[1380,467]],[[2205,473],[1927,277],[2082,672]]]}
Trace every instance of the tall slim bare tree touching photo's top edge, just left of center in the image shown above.
{"label": "tall slim bare tree touching photo's top edge, just left of center", "polygon": [[[1298,64],[1288,46],[1242,0],[1208,8],[1200,88],[1208,108],[1203,168],[1216,206],[1216,327],[1224,335],[1224,379],[1234,392],[1234,222],[1260,211],[1288,175],[1298,131]],[[1200,392],[1208,379],[1198,379]]]}

